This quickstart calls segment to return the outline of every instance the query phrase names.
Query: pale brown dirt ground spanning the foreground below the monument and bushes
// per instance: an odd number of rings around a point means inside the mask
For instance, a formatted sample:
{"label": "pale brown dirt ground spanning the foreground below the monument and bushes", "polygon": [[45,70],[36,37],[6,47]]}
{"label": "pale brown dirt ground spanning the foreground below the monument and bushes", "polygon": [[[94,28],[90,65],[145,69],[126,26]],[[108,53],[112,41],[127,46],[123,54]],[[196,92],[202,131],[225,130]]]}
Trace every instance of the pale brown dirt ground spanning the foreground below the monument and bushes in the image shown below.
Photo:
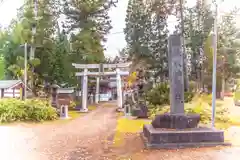
{"label": "pale brown dirt ground spanning the foreground below the monument and bushes", "polygon": [[[111,106],[112,107],[109,107]],[[107,106],[107,107],[104,107]],[[145,150],[139,134],[125,134],[114,145],[115,104],[68,123],[0,126],[1,160],[238,160],[240,146],[181,150]],[[239,128],[231,133],[240,135]]]}

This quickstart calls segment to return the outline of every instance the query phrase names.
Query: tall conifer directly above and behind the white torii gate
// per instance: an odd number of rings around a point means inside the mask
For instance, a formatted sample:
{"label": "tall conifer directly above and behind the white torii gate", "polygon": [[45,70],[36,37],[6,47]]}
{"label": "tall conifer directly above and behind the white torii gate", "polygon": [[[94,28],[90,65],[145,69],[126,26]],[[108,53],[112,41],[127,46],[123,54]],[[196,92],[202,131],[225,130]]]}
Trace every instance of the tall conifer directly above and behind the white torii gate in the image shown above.
{"label": "tall conifer directly above and behind the white torii gate", "polygon": [[104,60],[106,35],[111,26],[108,11],[115,3],[109,0],[65,1],[64,14],[68,21],[65,28],[72,34],[73,54],[79,62],[101,62]]}

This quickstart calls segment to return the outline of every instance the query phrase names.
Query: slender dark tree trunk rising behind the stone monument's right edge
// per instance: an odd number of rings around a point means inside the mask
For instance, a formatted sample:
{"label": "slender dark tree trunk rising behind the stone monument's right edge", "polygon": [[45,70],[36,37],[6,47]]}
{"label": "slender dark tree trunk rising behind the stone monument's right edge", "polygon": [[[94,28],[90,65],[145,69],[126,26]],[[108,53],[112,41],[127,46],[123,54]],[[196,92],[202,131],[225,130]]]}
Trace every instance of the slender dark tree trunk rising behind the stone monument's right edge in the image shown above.
{"label": "slender dark tree trunk rising behind the stone monument's right edge", "polygon": [[183,50],[183,71],[184,71],[184,90],[188,91],[188,73],[186,65],[186,49],[184,39],[184,17],[183,17],[183,0],[180,0],[180,17],[181,17],[181,35],[182,35],[182,50]]}

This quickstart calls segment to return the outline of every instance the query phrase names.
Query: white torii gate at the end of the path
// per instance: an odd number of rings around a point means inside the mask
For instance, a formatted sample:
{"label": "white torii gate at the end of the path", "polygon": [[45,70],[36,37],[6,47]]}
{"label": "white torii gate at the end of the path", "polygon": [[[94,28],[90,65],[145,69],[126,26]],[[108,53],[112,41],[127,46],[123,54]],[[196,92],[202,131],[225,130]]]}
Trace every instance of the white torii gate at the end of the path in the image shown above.
{"label": "white torii gate at the end of the path", "polygon": [[[80,112],[87,112],[87,89],[88,89],[88,76],[96,76],[96,98],[95,103],[99,102],[99,87],[100,87],[100,76],[114,76],[117,78],[117,101],[118,107],[121,108],[123,105],[122,98],[122,81],[121,76],[129,75],[128,71],[121,71],[120,68],[128,68],[130,63],[120,63],[120,64],[72,64],[76,69],[84,69],[83,72],[77,72],[76,76],[83,77],[82,83],[82,109]],[[105,72],[104,69],[116,69],[116,71]],[[90,72],[89,69],[98,69],[98,72]]]}

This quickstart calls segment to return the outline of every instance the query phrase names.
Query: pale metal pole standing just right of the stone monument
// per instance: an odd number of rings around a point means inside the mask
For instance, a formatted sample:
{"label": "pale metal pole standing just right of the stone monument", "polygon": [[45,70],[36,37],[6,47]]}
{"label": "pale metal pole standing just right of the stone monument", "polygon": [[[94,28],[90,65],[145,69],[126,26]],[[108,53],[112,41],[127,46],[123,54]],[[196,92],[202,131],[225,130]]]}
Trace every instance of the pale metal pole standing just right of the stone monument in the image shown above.
{"label": "pale metal pole standing just right of the stone monument", "polygon": [[213,73],[212,73],[212,128],[215,126],[215,114],[216,114],[216,78],[217,78],[217,25],[218,25],[218,4],[215,4],[215,19],[213,27]]}

